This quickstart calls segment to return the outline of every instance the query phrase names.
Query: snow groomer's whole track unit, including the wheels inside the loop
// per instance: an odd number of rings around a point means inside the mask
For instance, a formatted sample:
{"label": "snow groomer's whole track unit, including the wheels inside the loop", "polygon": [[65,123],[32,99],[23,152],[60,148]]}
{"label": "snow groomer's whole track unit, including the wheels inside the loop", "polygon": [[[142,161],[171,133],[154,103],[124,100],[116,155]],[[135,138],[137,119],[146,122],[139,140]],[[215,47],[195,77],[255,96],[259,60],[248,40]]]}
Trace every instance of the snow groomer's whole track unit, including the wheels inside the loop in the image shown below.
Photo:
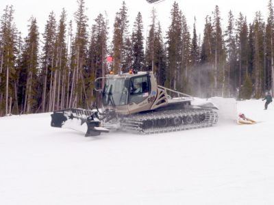
{"label": "snow groomer's whole track unit, including the wheels inside the loop", "polygon": [[216,111],[208,109],[180,109],[142,113],[123,118],[123,131],[154,134],[206,128],[216,124]]}

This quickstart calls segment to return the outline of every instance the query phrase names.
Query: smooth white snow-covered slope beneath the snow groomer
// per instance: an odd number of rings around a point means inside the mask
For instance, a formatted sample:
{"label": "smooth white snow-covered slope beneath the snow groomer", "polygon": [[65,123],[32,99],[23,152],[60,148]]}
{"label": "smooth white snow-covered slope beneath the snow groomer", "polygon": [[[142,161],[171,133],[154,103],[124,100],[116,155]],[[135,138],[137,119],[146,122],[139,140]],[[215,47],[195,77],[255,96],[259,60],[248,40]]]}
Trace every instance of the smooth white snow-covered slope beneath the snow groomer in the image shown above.
{"label": "smooth white snow-covered slope beneath the snow groomer", "polygon": [[274,204],[274,105],[237,103],[260,123],[84,137],[0,118],[0,204]]}

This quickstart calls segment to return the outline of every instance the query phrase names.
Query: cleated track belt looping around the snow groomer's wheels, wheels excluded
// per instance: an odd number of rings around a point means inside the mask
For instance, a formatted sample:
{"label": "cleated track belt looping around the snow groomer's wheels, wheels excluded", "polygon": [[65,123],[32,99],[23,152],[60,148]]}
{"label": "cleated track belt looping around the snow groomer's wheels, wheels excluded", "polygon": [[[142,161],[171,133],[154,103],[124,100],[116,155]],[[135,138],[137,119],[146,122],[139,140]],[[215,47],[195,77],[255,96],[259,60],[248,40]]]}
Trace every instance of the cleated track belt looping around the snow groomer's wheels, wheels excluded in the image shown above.
{"label": "cleated track belt looping around the snow groomer's wheels, wheels excluded", "polygon": [[[201,122],[195,122],[193,120],[192,124],[181,124],[179,126],[164,126],[153,128],[142,128],[143,124],[147,120],[160,120],[160,119],[173,119],[176,117],[184,118],[190,115],[193,119],[195,115],[204,115],[205,118]],[[121,122],[121,128],[123,131],[135,132],[140,134],[155,134],[155,133],[169,133],[173,131],[184,131],[197,128],[206,128],[213,126],[218,121],[218,114],[216,111],[210,109],[181,109],[181,110],[171,110],[163,112],[152,112],[144,114],[130,115],[123,118]]]}

